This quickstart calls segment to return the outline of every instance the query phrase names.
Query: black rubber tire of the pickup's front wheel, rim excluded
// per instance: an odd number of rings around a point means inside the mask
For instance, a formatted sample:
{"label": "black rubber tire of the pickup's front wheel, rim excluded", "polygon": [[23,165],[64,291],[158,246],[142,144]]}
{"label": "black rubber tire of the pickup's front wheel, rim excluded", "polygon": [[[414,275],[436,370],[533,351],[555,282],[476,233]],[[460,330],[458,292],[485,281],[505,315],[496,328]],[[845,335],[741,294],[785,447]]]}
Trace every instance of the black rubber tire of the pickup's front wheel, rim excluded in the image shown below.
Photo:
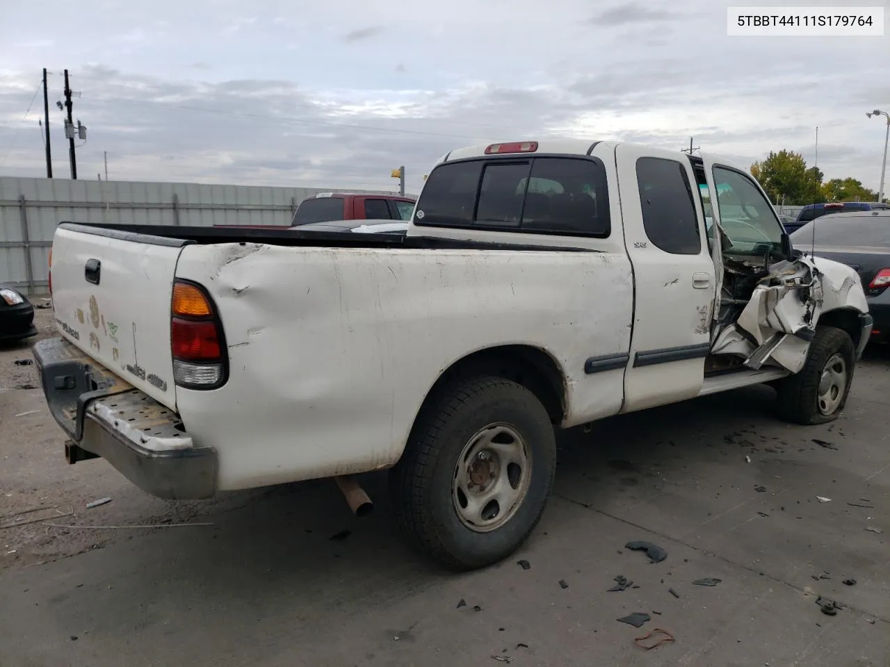
{"label": "black rubber tire of the pickup's front wheel, rim excluded", "polygon": [[[846,363],[846,386],[834,410],[824,414],[820,409],[819,382],[826,363],[836,354],[842,355]],[[781,417],[788,422],[804,425],[836,420],[846,405],[850,385],[853,383],[855,356],[853,339],[849,333],[834,326],[817,326],[803,369],[782,380],[776,387]]]}

